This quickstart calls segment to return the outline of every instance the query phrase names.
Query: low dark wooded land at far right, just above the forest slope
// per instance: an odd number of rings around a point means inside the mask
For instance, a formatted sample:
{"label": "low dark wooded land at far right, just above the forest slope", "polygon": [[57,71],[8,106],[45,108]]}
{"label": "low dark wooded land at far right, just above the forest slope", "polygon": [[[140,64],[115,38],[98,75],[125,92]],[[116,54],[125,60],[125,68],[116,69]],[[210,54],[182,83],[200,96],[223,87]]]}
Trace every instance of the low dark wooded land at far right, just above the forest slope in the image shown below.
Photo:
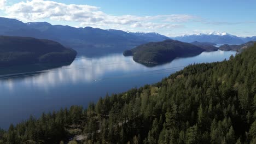
{"label": "low dark wooded land at far right, just above the forest slope", "polygon": [[245,44],[241,44],[241,45],[222,45],[219,47],[219,50],[223,50],[223,51],[241,51],[243,49],[246,49],[248,47],[251,47],[254,45],[256,41],[248,41]]}

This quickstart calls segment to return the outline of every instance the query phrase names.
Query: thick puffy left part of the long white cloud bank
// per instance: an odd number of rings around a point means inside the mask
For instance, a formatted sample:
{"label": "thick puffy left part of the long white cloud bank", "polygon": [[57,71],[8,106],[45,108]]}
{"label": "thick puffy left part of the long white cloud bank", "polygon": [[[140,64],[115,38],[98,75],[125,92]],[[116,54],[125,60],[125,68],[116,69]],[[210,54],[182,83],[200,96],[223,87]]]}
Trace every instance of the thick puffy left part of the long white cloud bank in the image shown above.
{"label": "thick puffy left part of the long white cloud bank", "polygon": [[13,4],[7,7],[5,13],[10,17],[25,21],[45,18],[62,21],[81,21],[89,19],[91,15],[101,15],[98,9],[90,5],[67,5],[53,1],[32,0]]}

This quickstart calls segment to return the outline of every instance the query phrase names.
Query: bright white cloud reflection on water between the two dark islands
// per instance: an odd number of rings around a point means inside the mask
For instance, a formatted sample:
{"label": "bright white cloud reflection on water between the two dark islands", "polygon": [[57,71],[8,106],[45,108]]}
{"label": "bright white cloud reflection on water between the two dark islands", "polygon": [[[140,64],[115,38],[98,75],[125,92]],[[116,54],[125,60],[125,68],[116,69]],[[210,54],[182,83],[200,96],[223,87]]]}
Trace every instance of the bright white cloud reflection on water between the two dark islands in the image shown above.
{"label": "bright white cloud reflection on water between the two dark islands", "polygon": [[131,57],[115,54],[99,58],[79,57],[68,66],[45,70],[40,74],[28,74],[15,79],[1,80],[1,85],[13,89],[13,81],[23,81],[27,87],[52,87],[61,83],[76,83],[78,81],[91,82],[102,79],[106,73],[113,71],[125,72],[139,69],[140,66]]}

